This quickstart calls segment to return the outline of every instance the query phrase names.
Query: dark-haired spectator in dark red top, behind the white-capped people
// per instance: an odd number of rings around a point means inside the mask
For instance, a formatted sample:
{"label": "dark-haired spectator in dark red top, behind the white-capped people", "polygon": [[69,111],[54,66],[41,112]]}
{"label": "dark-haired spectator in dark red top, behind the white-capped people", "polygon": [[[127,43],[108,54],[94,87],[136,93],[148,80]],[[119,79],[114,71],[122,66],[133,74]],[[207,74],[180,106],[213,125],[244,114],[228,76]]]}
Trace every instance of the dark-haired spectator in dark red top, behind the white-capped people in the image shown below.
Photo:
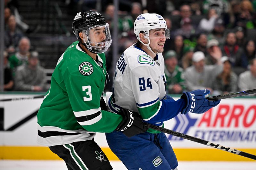
{"label": "dark-haired spectator in dark red top, behind the white-capped people", "polygon": [[242,54],[243,49],[236,44],[236,35],[233,32],[229,32],[226,36],[226,43],[223,46],[222,54],[228,56],[232,62],[232,66],[242,66]]}

